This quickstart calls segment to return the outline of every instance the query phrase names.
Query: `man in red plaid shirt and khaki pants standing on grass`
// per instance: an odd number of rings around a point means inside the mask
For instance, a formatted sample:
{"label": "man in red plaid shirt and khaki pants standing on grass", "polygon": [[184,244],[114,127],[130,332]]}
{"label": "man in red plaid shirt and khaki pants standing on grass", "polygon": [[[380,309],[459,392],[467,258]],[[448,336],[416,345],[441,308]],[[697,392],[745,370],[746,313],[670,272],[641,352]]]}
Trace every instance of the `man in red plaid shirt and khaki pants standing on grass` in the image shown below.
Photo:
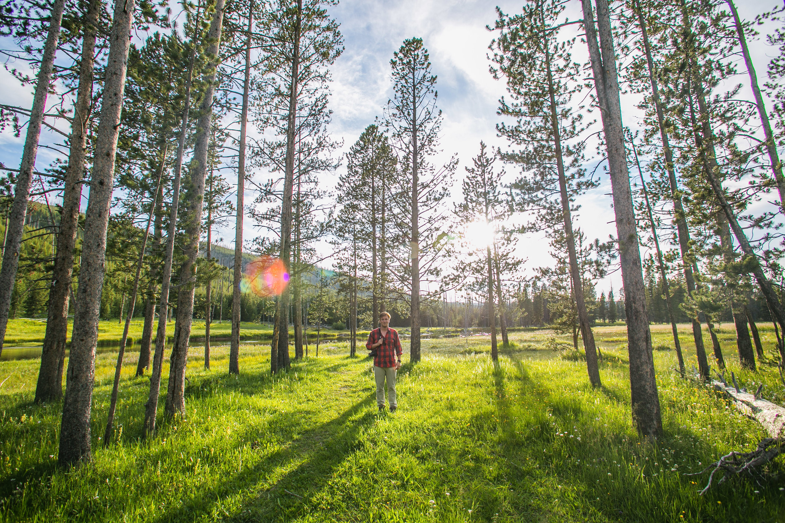
{"label": "man in red plaid shirt and khaki pants standing on grass", "polygon": [[[385,410],[385,380],[387,380],[387,398],[390,402],[390,412],[395,412],[398,401],[395,391],[396,371],[400,369],[400,355],[403,348],[396,329],[390,329],[390,315],[387,312],[379,314],[378,329],[371,331],[365,348],[371,350],[374,356],[374,377],[376,378],[376,403],[379,412]],[[375,352],[375,354],[374,354]]]}

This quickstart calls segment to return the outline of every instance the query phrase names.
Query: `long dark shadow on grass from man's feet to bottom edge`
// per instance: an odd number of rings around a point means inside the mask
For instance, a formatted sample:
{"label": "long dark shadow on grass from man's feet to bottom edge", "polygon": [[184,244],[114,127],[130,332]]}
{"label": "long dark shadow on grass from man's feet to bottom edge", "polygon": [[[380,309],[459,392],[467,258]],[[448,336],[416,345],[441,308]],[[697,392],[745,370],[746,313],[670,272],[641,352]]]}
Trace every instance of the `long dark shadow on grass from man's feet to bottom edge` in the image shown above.
{"label": "long dark shadow on grass from man's feet to bottom edge", "polygon": [[[368,394],[340,416],[299,433],[290,445],[266,456],[253,467],[206,491],[194,492],[180,507],[167,511],[158,521],[210,518],[216,509],[223,510],[221,517],[224,521],[271,521],[279,516],[301,513],[308,507],[309,495],[327,481],[330,471],[338,463],[357,449],[362,428],[377,419],[374,410],[367,409],[374,403],[374,395]],[[367,412],[360,415],[363,409]],[[253,434],[246,434],[245,439],[249,438],[252,440]],[[272,485],[265,485],[265,479],[271,473],[291,463],[298,464]],[[221,507],[222,499],[239,492],[253,493],[253,489],[259,487],[261,490],[250,499],[244,499],[241,510],[235,510],[234,514]]]}

